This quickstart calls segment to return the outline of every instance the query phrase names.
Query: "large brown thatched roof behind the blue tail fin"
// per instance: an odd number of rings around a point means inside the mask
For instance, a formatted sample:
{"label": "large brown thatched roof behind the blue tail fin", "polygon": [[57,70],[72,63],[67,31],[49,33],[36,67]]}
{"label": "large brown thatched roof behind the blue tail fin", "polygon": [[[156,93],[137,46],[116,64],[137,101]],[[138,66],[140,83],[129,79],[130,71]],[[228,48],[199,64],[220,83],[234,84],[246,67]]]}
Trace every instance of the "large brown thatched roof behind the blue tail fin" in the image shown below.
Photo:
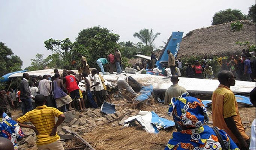
{"label": "large brown thatched roof behind the blue tail fin", "polygon": [[241,20],[244,26],[238,32],[231,31],[231,23],[190,31],[182,39],[178,57],[237,55],[241,54],[241,50],[246,47],[236,45],[236,42],[249,41],[250,44],[255,44],[254,23]]}

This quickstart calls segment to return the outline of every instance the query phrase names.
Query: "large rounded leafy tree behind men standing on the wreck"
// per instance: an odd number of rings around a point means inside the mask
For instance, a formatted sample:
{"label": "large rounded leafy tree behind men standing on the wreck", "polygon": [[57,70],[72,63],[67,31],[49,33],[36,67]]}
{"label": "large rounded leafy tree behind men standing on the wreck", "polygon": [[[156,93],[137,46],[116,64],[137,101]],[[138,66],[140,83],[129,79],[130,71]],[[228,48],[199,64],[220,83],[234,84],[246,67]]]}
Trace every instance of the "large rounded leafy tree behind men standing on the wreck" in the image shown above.
{"label": "large rounded leafy tree behind men standing on the wreck", "polygon": [[100,26],[83,29],[76,38],[77,44],[83,45],[85,49],[80,49],[79,53],[87,58],[90,67],[97,68],[96,60],[106,58],[114,52],[114,47],[119,48],[117,44],[119,35],[111,33],[107,28]]}

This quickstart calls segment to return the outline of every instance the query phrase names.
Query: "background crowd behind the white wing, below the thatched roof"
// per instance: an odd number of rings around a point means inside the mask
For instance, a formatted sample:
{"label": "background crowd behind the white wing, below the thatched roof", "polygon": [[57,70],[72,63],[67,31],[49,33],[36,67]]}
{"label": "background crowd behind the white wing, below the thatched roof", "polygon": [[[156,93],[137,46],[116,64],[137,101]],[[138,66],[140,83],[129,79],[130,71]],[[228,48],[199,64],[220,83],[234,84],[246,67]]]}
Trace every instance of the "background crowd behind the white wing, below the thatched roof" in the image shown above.
{"label": "background crowd behind the white wing, below the thatched roof", "polygon": [[[154,75],[161,75],[171,77],[172,75],[178,75],[179,77],[189,77],[189,78],[200,78],[200,79],[213,79],[214,73],[211,66],[211,59],[204,58],[201,61],[196,60],[194,63],[186,62],[183,65],[181,59],[175,61],[174,56],[170,51],[168,53],[168,65],[163,64],[162,70],[159,70],[155,65],[156,56],[155,53],[151,54],[150,65],[145,65],[144,61],[142,64],[136,64],[135,69],[141,70],[148,67],[149,71],[152,71]],[[236,77],[237,80],[244,81],[255,81],[256,76],[256,62],[255,62],[255,53],[250,53],[249,50],[242,50],[241,55],[236,56],[222,56],[218,58],[218,68],[220,70],[231,71]],[[144,64],[143,64],[144,63]],[[152,66],[152,67],[151,67]],[[218,70],[218,69],[216,69]]]}

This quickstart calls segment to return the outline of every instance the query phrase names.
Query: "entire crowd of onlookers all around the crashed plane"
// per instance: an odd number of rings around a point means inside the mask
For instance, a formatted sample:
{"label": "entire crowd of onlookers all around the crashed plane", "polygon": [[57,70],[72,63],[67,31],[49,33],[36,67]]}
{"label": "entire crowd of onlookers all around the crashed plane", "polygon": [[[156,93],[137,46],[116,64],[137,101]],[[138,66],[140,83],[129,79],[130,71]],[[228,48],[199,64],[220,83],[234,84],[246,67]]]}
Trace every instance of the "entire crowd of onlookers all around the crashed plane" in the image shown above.
{"label": "entire crowd of onlookers all around the crashed plane", "polygon": [[[173,54],[170,51],[167,53],[169,55],[168,66],[163,65],[162,71],[156,65],[152,69],[155,74],[170,77],[173,83],[165,92],[164,104],[169,105],[168,114],[173,116],[177,132],[173,133],[165,150],[255,149],[255,120],[251,128],[251,138],[249,138],[242,125],[235,95],[230,90],[230,86],[235,85],[236,75],[240,79],[251,81],[250,61],[255,63],[255,59],[253,60],[248,54],[243,54],[242,59],[240,56],[219,59],[222,69],[217,77],[220,85],[212,95],[213,126],[218,128],[211,128],[203,125],[209,121],[209,116],[202,101],[189,96],[186,89],[179,86],[178,82],[181,76],[180,69],[184,67],[186,67],[186,77],[209,79],[214,77],[212,67],[206,63],[203,67],[199,61],[196,61],[195,65],[185,63],[185,66],[182,66],[180,59],[176,64]],[[0,90],[0,137],[9,139],[15,150],[18,149],[18,141],[24,137],[20,127],[34,130],[39,150],[64,150],[56,132],[57,127],[65,119],[63,112],[71,110],[83,112],[87,107],[101,107],[106,99],[111,102],[110,94],[104,84],[105,80],[99,71],[90,70],[86,58],[81,54],[78,56],[81,59],[78,73],[71,70],[63,70],[63,73],[59,73],[58,69],[54,69],[54,76],[45,74],[37,78],[30,78],[28,73],[23,73],[23,79],[16,91],[10,89],[6,93]],[[156,58],[153,52],[151,58],[151,63],[155,64]],[[116,66],[119,75],[117,79],[119,92],[126,89],[133,96],[137,96],[129,85],[128,77],[125,74],[121,75],[121,60],[120,51],[115,49],[114,55],[108,55],[107,59],[100,58],[96,60],[96,63],[102,74],[106,74],[105,64],[109,64],[110,74],[114,73],[114,66]],[[243,69],[238,66],[243,66]],[[243,75],[238,74],[238,70],[243,70]],[[84,91],[79,87],[82,79],[84,79]],[[255,88],[250,93],[250,99],[255,107]],[[14,121],[11,118],[11,108],[17,109],[19,106],[21,106],[22,115]],[[54,117],[58,118],[57,122]],[[27,125],[25,122],[31,122],[34,126]],[[0,146],[1,142],[2,140],[0,140]]]}

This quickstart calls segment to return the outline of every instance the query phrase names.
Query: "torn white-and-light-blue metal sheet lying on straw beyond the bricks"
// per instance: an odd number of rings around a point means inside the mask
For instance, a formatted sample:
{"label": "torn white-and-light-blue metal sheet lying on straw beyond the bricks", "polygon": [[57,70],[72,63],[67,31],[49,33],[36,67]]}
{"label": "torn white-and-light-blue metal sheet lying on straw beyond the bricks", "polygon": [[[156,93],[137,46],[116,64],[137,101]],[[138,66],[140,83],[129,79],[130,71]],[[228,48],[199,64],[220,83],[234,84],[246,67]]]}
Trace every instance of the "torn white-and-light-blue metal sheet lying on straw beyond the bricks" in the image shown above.
{"label": "torn white-and-light-blue metal sheet lying on straw beyond the bricks", "polygon": [[173,121],[159,117],[154,111],[140,111],[137,116],[129,117],[125,124],[137,121],[149,133],[159,133],[161,129],[175,126]]}

